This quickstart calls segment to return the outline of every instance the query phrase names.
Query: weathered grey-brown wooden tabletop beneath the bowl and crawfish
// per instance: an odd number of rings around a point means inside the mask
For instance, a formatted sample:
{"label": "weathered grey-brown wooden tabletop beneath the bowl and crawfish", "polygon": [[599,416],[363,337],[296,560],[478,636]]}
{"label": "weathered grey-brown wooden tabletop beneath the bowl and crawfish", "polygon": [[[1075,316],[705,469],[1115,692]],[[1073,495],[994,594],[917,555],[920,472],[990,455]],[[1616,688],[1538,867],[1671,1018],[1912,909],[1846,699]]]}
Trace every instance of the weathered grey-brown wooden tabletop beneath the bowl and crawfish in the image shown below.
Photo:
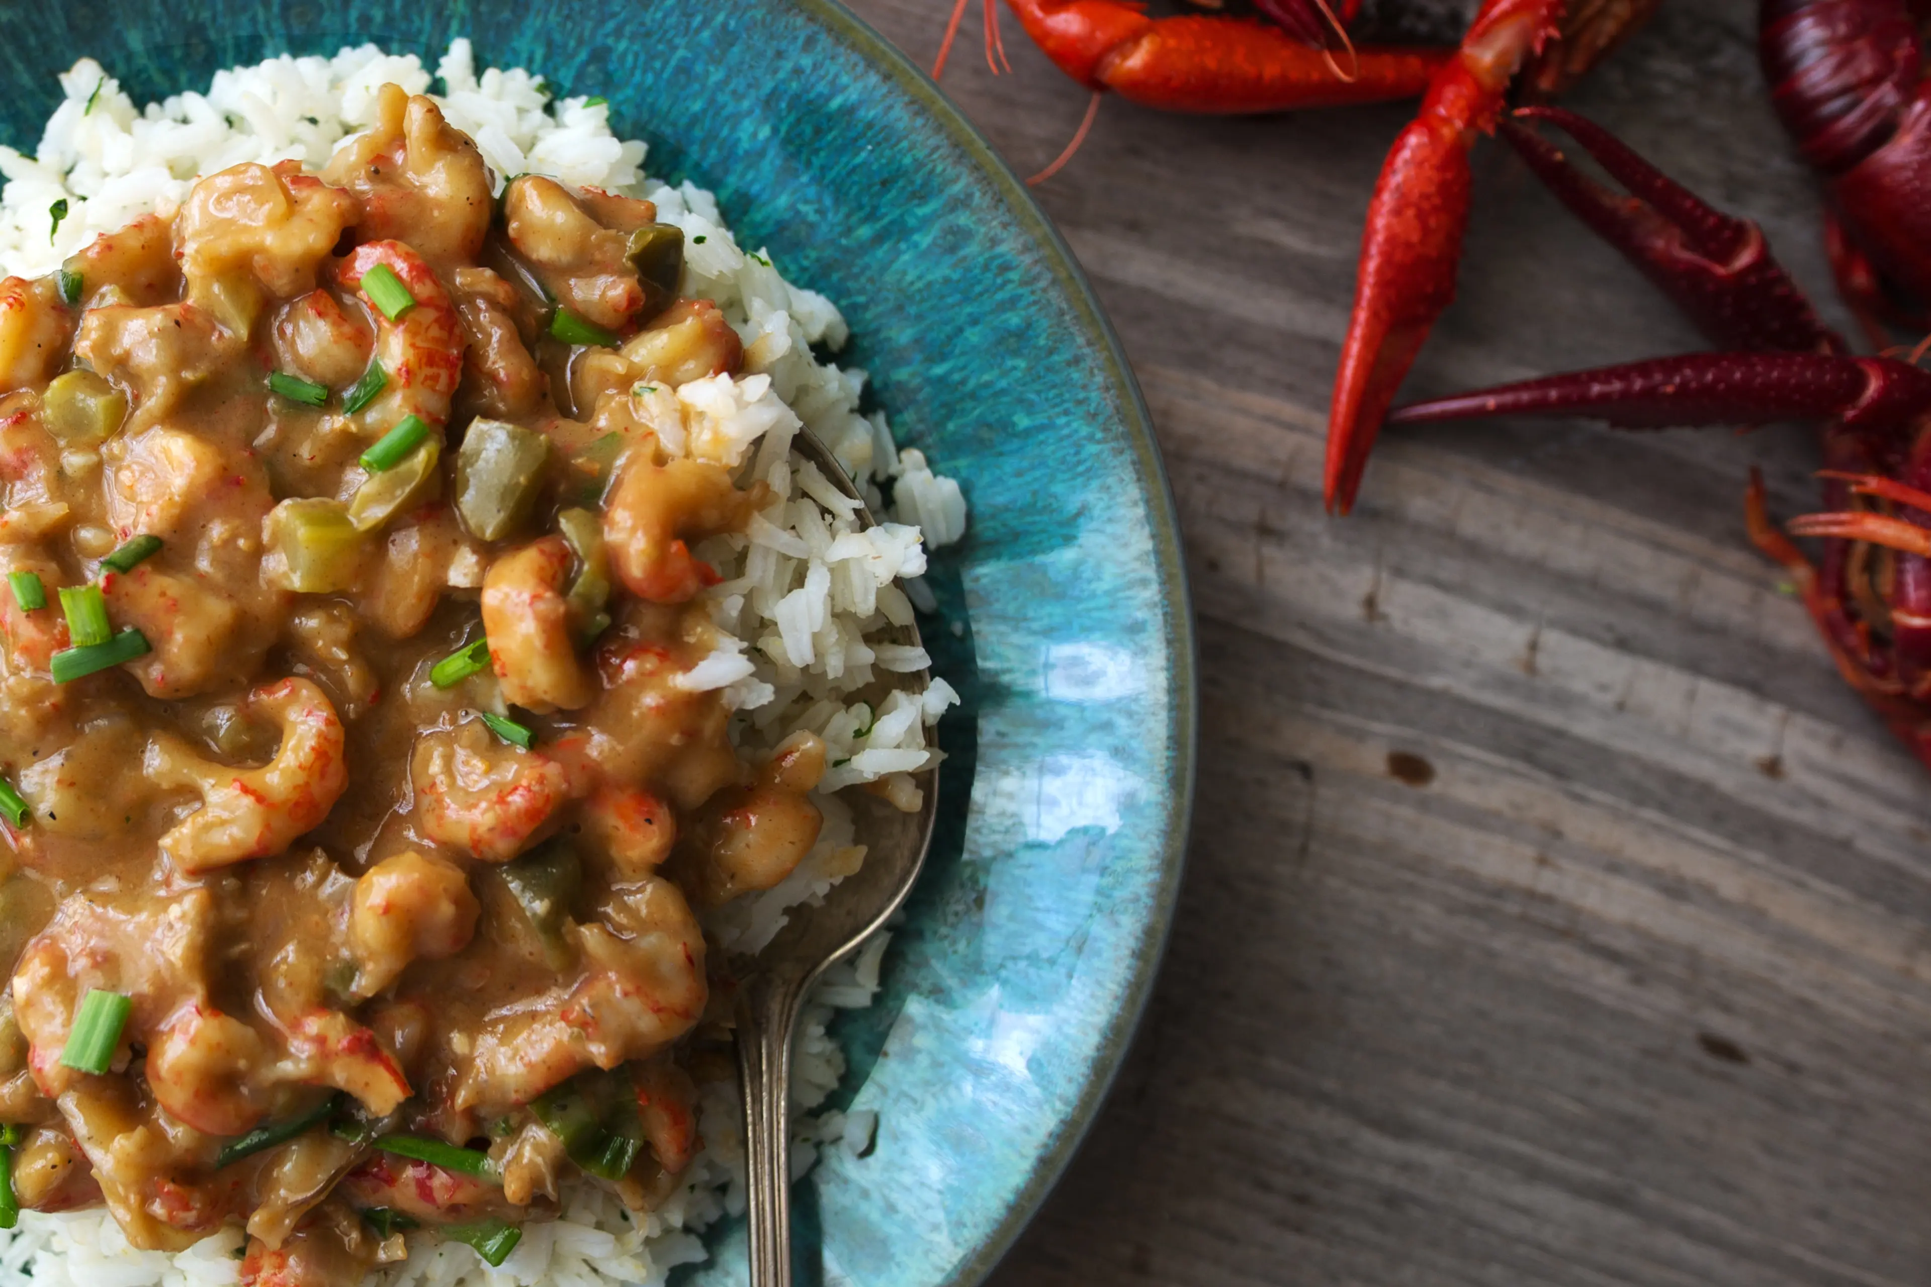
{"label": "weathered grey-brown wooden tabletop beneath the bowl and crawfish", "polygon": [[[944,0],[850,0],[929,66]],[[977,0],[975,0],[977,2]],[[946,89],[1029,174],[1085,93],[977,12]],[[1755,6],[1668,0],[1568,102],[1759,220],[1842,318]],[[1931,780],[1746,544],[1800,428],[1321,440],[1406,108],[1108,100],[1039,191],[1153,405],[1201,629],[1164,976],[994,1275],[1095,1283],[1925,1283]],[[1701,347],[1498,147],[1412,394]]]}

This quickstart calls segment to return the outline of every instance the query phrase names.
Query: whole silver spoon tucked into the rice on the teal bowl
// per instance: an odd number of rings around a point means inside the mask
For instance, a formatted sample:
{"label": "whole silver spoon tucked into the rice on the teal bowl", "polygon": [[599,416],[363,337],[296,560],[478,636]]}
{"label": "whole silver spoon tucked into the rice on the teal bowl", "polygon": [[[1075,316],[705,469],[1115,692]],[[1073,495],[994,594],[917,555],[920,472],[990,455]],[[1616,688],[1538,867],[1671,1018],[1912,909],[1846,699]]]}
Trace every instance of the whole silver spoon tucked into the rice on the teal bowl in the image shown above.
{"label": "whole silver spoon tucked into the rice on the teal bowl", "polygon": [[[792,448],[819,467],[832,486],[861,502],[859,523],[877,519],[838,459],[809,428]],[[919,644],[906,625],[898,643]],[[892,687],[919,691],[927,671],[886,675]],[[811,984],[830,965],[857,951],[906,901],[925,864],[938,814],[938,770],[915,776],[923,803],[900,812],[884,801],[850,793],[865,864],[832,886],[821,907],[796,907],[790,920],[755,957],[738,969],[738,1082],[743,1090],[743,1146],[749,1173],[751,1287],[792,1287],[792,1028]]]}

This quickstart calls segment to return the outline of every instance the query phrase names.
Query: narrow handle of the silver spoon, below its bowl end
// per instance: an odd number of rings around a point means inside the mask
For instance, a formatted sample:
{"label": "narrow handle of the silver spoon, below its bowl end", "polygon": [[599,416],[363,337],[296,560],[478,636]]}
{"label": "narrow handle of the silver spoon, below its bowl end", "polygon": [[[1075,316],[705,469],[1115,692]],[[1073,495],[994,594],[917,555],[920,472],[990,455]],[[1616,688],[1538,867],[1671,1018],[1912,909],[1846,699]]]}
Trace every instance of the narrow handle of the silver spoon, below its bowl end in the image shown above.
{"label": "narrow handle of the silver spoon, below its bowl end", "polygon": [[792,1287],[792,1025],[803,982],[767,971],[738,994],[751,1287]]}

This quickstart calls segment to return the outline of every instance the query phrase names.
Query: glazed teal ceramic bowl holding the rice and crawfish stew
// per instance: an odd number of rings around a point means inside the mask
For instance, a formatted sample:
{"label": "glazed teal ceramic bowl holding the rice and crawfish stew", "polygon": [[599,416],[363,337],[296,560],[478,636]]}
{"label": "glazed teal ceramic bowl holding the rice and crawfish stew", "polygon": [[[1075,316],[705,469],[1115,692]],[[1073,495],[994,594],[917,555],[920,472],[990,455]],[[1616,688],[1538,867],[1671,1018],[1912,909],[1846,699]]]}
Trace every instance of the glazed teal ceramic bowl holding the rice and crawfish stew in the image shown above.
{"label": "glazed teal ceramic bowl holding the rice and crawfish stew", "polygon": [[[377,41],[604,95],[655,174],[718,193],[747,245],[830,295],[900,440],[971,533],[921,621],[964,693],[938,837],[840,1028],[865,1158],[798,1187],[803,1283],[979,1281],[1091,1121],[1159,965],[1193,780],[1178,536],[1133,376],[1072,255],[985,139],[828,0],[168,0],[0,10],[0,137],[27,151],[91,54],[135,96]],[[742,1229],[689,1281],[743,1279]]]}

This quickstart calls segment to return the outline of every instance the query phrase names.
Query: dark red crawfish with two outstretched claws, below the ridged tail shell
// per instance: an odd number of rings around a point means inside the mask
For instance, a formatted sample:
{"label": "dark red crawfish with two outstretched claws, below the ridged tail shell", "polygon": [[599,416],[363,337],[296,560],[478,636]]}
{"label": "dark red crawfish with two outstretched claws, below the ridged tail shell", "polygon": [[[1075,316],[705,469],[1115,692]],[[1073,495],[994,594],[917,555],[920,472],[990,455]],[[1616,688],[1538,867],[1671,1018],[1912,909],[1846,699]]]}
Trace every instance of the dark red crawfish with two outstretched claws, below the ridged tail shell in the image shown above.
{"label": "dark red crawfish with two outstretched claws, below the ridged tail shell", "polygon": [[1771,257],[1761,232],[1701,203],[1599,125],[1556,108],[1518,112],[1566,129],[1630,193],[1581,174],[1520,123],[1502,133],[1558,197],[1605,233],[1722,349],[1504,384],[1394,411],[1419,424],[1500,415],[1589,417],[1618,428],[1815,421],[1825,513],[1811,563],[1769,521],[1751,479],[1751,540],[1784,563],[1838,670],[1931,764],[1931,372],[1850,357]]}

